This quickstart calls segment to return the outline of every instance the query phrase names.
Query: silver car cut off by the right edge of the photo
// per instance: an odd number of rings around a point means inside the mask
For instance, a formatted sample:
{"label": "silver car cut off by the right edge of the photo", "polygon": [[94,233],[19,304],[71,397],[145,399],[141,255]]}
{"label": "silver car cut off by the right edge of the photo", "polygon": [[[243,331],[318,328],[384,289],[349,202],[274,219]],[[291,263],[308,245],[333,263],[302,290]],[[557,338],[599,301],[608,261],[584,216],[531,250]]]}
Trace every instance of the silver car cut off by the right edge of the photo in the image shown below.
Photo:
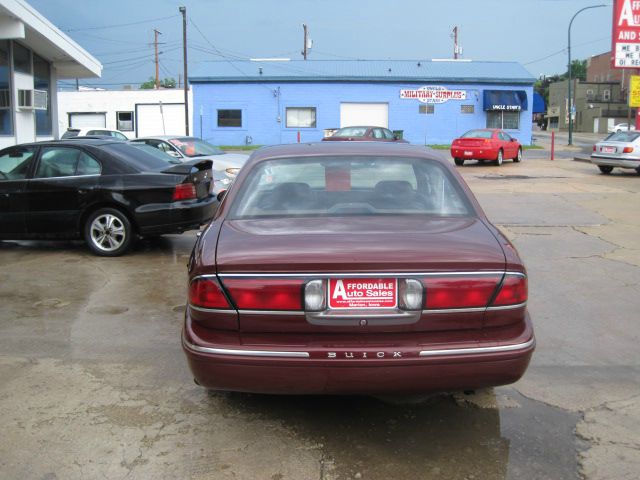
{"label": "silver car cut off by the right edge of the photo", "polygon": [[612,133],[596,143],[591,152],[591,163],[598,165],[604,174],[618,167],[633,168],[640,175],[640,132]]}

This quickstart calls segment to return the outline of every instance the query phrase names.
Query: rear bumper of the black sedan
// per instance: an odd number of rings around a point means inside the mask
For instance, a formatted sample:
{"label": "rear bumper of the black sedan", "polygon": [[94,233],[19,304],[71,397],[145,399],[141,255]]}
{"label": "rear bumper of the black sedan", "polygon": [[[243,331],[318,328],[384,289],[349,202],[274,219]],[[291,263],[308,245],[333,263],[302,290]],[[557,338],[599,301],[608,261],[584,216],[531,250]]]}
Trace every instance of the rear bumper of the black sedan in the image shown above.
{"label": "rear bumper of the black sedan", "polygon": [[200,200],[146,204],[136,209],[135,220],[141,235],[181,233],[208,223],[217,206],[214,195]]}

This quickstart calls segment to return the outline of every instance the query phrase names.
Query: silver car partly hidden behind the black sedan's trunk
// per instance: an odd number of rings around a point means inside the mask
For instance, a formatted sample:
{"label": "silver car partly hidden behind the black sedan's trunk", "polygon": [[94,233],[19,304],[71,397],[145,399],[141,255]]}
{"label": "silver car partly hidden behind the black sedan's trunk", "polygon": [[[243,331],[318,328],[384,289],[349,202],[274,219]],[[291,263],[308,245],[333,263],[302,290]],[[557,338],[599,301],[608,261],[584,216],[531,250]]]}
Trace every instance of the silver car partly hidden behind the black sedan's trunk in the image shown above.
{"label": "silver car partly hidden behind the black sedan's trunk", "polygon": [[196,137],[163,135],[137,138],[132,142],[145,143],[181,161],[194,158],[212,160],[214,171],[224,172],[229,182],[235,178],[249,158],[249,155],[243,153],[225,153],[215,145]]}

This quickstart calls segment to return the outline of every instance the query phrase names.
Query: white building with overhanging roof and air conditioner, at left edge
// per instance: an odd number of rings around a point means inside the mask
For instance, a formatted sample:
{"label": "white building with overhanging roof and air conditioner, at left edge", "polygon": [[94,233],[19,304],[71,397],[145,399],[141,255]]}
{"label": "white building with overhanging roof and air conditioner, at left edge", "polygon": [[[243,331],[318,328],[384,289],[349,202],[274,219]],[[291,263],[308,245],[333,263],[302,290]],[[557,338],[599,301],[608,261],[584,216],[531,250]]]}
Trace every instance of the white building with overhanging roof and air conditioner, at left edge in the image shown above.
{"label": "white building with overhanging roof and air conditioner, at left edge", "polygon": [[59,138],[58,79],[102,65],[23,0],[0,0],[0,148]]}

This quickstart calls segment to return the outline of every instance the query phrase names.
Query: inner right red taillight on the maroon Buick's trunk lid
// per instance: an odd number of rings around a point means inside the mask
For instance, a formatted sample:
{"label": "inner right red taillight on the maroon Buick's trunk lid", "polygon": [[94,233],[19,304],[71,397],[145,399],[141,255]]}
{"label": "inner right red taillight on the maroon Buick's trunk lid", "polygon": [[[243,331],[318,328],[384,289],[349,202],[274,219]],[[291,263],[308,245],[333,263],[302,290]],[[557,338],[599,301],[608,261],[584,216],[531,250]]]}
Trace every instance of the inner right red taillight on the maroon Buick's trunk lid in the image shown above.
{"label": "inner right red taillight on the maroon Buick's trunk lid", "polygon": [[425,278],[425,307],[428,310],[486,307],[499,280],[497,275]]}

